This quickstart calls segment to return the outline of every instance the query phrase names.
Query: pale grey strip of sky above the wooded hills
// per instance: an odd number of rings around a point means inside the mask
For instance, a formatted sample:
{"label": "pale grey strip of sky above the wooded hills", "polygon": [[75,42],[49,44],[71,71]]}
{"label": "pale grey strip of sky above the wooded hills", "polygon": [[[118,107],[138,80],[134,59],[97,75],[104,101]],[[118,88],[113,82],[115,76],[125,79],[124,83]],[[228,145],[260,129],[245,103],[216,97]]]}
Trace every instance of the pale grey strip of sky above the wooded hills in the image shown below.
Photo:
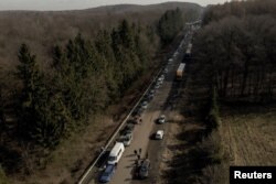
{"label": "pale grey strip of sky above the wooded hills", "polygon": [[226,1],[231,0],[1,0],[0,11],[66,11],[120,4],[150,6],[166,2],[189,2],[205,7]]}

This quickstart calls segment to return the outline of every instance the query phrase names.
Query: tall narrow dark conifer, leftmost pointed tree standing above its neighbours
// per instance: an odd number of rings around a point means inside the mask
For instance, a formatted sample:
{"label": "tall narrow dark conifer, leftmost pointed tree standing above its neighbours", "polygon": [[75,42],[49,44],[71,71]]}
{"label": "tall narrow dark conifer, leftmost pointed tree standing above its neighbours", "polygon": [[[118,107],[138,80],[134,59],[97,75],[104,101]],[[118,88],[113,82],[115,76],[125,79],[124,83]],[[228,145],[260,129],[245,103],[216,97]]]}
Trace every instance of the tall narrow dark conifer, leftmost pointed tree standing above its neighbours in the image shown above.
{"label": "tall narrow dark conifer, leftmost pointed tree standing above its neighbours", "polygon": [[23,87],[19,101],[19,128],[26,137],[35,134],[39,120],[39,112],[45,104],[46,93],[43,86],[43,75],[39,72],[35,56],[30,54],[25,44],[19,51],[17,76],[22,80]]}

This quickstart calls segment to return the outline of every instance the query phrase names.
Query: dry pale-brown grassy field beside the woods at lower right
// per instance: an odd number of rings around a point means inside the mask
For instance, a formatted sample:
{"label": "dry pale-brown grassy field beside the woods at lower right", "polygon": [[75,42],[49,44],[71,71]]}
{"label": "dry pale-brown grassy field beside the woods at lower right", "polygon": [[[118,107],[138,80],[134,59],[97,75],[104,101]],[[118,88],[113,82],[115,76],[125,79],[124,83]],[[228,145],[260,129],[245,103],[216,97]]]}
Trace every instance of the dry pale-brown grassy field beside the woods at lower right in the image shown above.
{"label": "dry pale-brown grassy field beside the woods at lower right", "polygon": [[231,165],[276,164],[276,108],[222,115],[222,143]]}

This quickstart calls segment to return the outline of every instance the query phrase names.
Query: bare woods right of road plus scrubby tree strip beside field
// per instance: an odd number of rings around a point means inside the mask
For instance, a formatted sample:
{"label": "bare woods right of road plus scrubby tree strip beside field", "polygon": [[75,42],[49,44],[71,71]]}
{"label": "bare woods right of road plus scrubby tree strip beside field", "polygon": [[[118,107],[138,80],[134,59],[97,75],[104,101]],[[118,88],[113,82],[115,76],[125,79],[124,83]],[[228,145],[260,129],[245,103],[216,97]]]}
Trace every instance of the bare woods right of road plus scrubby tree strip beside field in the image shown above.
{"label": "bare woods right of road plus scrubby tree strip beside field", "polygon": [[230,155],[221,137],[221,105],[275,101],[275,9],[272,0],[235,1],[206,9],[202,29],[193,37],[191,65],[209,102],[202,110],[203,139],[191,153],[201,163],[197,167],[200,172],[189,174],[188,183],[229,182]]}

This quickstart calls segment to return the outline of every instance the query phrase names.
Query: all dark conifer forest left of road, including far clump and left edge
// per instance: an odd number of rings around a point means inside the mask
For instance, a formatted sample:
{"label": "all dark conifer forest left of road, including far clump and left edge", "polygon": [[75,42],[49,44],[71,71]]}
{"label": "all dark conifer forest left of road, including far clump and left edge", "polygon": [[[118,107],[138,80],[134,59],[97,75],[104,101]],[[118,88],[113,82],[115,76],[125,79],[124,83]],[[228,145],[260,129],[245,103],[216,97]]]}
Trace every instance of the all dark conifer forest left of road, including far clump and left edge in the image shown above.
{"label": "all dark conifer forest left of road, including far clump and left edge", "polygon": [[183,24],[180,9],[166,11],[151,24],[124,19],[113,29],[98,29],[95,37],[78,32],[64,44],[53,43],[46,63],[21,43],[17,67],[8,76],[1,73],[0,181],[7,180],[1,167],[9,174],[20,167],[32,173],[28,165],[7,159],[11,152],[23,159],[20,148],[11,150],[11,144],[30,148],[28,154],[55,150],[85,128],[92,116],[118,104],[132,83],[156,65],[152,57]]}

